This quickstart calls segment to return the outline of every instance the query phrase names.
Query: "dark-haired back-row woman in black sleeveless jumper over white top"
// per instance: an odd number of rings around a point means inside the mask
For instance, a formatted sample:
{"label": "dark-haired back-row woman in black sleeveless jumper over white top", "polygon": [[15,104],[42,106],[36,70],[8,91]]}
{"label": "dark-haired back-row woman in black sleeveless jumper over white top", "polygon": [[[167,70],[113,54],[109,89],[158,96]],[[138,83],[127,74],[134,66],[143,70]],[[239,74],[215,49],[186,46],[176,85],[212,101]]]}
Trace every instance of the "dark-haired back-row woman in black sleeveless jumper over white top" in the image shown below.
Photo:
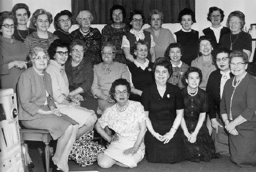
{"label": "dark-haired back-row woman in black sleeveless jumper over white top", "polygon": [[199,32],[191,29],[192,24],[195,22],[195,13],[191,9],[185,8],[179,13],[178,19],[182,28],[174,33],[174,39],[184,49],[181,61],[190,66],[191,61],[198,56],[197,43],[199,41]]}

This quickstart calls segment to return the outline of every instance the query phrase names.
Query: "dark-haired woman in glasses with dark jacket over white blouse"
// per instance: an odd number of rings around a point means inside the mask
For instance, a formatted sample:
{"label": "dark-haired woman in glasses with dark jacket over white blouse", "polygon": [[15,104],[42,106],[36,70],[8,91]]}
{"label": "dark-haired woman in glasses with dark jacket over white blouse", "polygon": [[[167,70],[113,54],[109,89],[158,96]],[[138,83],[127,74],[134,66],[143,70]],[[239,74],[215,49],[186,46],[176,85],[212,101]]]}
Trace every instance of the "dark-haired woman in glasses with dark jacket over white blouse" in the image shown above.
{"label": "dark-haired woman in glasses with dark jacket over white blouse", "polygon": [[230,151],[228,146],[228,133],[224,128],[224,122],[220,116],[220,100],[226,81],[234,76],[234,74],[230,72],[230,52],[231,51],[226,48],[218,49],[216,56],[212,59],[218,69],[210,74],[207,82],[208,115],[213,129],[212,137],[214,138],[214,146],[216,153],[225,156],[230,156]]}

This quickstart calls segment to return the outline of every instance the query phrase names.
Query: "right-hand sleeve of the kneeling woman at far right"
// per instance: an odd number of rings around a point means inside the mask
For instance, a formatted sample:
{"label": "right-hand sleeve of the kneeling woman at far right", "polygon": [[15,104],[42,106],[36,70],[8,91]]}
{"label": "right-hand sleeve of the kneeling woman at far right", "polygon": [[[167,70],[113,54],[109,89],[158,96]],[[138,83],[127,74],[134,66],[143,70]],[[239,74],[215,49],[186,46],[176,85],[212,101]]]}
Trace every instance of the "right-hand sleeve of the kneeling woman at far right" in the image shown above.
{"label": "right-hand sleeve of the kneeling woman at far right", "polygon": [[[251,79],[251,78],[250,78]],[[243,110],[241,116],[247,121],[251,121],[256,111],[256,80],[252,78],[247,84],[246,91],[246,109]]]}

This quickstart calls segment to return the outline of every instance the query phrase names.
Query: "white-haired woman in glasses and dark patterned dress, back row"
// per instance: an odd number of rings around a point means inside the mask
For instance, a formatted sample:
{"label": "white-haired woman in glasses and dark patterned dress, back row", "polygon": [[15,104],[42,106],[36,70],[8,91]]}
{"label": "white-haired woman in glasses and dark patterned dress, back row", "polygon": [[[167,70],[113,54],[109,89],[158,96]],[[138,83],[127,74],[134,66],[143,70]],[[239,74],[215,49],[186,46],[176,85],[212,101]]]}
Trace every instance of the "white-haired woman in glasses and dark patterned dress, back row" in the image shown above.
{"label": "white-haired woman in glasses and dark patterned dress, back row", "polygon": [[94,17],[90,11],[80,11],[77,15],[77,22],[80,28],[71,32],[73,39],[83,40],[86,44],[86,54],[84,54],[84,59],[90,61],[92,65],[96,65],[102,62],[100,58],[100,46],[102,35],[98,28],[91,28],[90,24]]}

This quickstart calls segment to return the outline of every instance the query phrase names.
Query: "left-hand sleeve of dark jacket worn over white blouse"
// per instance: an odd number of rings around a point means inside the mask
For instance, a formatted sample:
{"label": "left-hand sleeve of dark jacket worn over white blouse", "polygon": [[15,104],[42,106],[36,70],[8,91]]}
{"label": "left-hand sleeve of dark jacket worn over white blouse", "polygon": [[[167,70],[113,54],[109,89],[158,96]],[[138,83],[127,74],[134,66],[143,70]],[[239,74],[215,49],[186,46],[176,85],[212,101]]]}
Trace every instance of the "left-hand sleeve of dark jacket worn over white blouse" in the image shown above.
{"label": "left-hand sleeve of dark jacket worn over white blouse", "polygon": [[208,111],[210,119],[216,118],[216,105],[214,103],[214,76],[210,74],[207,82],[207,94],[208,94]]}

